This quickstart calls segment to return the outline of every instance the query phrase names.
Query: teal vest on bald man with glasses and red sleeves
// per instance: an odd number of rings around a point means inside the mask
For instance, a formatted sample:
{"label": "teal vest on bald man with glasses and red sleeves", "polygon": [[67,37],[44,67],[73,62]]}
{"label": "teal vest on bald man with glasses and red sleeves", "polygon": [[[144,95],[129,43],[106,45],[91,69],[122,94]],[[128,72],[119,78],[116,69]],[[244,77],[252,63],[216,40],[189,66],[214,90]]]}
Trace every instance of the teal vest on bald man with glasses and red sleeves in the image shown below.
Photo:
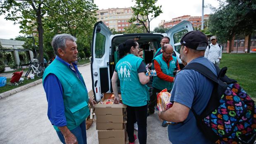
{"label": "teal vest on bald man with glasses and red sleeves", "polygon": [[[175,71],[175,68],[176,68],[176,62],[177,62],[176,57],[172,56],[172,60],[169,61],[169,68],[166,62],[163,60],[163,54],[156,56],[155,59],[153,60],[156,60],[158,62],[163,73],[165,73],[168,76],[174,77],[173,71]],[[173,83],[162,80],[158,78],[158,76],[154,76],[153,87],[156,87],[159,90],[163,90],[165,88],[167,88],[167,90],[171,90],[172,86],[173,86]]]}

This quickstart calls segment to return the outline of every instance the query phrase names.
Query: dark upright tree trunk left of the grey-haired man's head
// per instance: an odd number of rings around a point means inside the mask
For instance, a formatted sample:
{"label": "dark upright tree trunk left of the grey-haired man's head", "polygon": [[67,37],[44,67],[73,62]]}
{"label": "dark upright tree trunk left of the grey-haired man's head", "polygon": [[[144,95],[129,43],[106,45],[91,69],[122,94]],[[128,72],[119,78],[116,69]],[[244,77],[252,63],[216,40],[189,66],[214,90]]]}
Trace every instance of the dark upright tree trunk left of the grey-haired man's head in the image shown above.
{"label": "dark upright tree trunk left of the grey-haired man's head", "polygon": [[37,11],[37,30],[38,30],[38,43],[39,43],[39,62],[43,63],[43,25],[41,16],[41,5],[38,6]]}

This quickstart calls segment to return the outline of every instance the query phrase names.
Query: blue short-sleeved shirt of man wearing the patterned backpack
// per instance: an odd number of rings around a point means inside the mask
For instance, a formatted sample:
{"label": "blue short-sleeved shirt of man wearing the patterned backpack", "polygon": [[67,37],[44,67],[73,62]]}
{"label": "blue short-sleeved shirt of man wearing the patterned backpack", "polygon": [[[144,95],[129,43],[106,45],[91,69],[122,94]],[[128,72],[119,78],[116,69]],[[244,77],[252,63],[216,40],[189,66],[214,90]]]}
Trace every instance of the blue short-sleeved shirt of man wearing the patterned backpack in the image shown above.
{"label": "blue short-sleeved shirt of man wearing the patterned backpack", "polygon": [[[211,61],[204,57],[193,59],[190,63],[197,62],[210,68],[217,75]],[[175,76],[171,91],[171,102],[178,102],[201,114],[205,109],[213,91],[213,83],[198,71],[191,69],[182,70]],[[172,144],[209,144],[208,139],[196,125],[196,118],[190,110],[187,119],[177,125],[168,126],[168,136]]]}

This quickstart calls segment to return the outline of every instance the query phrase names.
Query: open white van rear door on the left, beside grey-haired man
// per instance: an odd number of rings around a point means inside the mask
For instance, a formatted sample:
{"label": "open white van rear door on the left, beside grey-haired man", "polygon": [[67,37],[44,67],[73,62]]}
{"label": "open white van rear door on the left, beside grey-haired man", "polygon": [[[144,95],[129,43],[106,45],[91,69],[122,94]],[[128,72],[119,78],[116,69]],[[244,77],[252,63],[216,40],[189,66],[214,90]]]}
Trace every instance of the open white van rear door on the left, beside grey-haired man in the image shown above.
{"label": "open white van rear door on the left, beside grey-haired man", "polygon": [[105,92],[110,92],[109,58],[111,52],[112,33],[102,21],[93,29],[91,46],[91,78],[93,94],[97,102]]}

